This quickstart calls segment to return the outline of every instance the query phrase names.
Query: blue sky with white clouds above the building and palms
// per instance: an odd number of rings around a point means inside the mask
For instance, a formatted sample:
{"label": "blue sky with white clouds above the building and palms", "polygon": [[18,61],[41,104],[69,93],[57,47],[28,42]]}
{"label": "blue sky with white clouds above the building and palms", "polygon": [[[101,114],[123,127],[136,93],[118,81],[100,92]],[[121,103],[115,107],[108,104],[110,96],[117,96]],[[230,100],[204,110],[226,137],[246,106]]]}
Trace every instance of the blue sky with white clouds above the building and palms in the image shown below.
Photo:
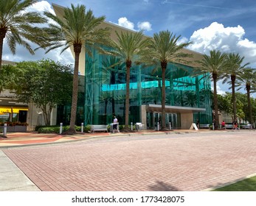
{"label": "blue sky with white clouds above the building and palms", "polygon": [[[32,10],[52,10],[51,4],[70,7],[84,4],[95,16],[105,15],[105,21],[139,31],[145,35],[170,30],[181,35],[181,40],[193,41],[189,49],[209,54],[212,49],[235,52],[245,57],[244,63],[256,68],[256,1],[255,0],[52,0],[39,1]],[[10,54],[4,46],[5,60],[38,60],[52,58],[63,63],[73,63],[70,52],[59,55],[58,51],[34,56],[17,47],[17,54]],[[220,90],[228,86],[218,83]]]}

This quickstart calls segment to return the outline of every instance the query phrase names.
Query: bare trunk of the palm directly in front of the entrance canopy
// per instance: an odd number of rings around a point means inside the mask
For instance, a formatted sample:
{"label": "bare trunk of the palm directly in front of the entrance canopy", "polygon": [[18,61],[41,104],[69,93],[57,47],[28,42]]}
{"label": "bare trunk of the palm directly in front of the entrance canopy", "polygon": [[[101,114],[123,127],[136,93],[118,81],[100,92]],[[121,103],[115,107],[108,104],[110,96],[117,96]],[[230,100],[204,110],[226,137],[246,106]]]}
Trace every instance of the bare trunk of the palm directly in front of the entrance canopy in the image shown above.
{"label": "bare trunk of the palm directly in front of the entrance canopy", "polygon": [[165,124],[165,71],[167,68],[167,63],[166,62],[162,62],[161,63],[161,67],[162,67],[162,128],[161,129],[165,129],[166,128],[166,124]]}

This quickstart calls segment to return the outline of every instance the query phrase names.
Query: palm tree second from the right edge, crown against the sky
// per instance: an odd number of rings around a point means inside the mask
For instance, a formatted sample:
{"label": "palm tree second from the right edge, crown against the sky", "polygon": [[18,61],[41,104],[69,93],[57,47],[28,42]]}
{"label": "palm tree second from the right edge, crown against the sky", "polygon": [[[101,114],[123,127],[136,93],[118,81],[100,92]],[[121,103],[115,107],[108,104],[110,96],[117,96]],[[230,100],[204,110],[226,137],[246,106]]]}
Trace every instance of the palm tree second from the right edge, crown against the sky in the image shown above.
{"label": "palm tree second from the right edge, crown against the sky", "polygon": [[236,107],[236,98],[235,98],[235,79],[236,77],[240,77],[243,74],[243,68],[249,63],[242,65],[244,57],[240,57],[239,54],[229,53],[226,57],[228,67],[223,75],[225,83],[229,77],[231,80],[232,86],[232,104],[233,104],[233,118],[234,121],[237,121],[237,107]]}

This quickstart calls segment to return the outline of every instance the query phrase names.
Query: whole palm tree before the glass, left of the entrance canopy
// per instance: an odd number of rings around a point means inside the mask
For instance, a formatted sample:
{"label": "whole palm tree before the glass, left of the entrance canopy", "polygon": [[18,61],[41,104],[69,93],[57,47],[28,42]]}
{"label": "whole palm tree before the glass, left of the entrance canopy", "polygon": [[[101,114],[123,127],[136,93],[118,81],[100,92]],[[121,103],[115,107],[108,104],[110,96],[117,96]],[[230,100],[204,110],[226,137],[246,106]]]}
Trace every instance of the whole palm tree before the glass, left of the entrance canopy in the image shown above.
{"label": "whole palm tree before the glass, left of the entrance canopy", "polygon": [[117,56],[120,61],[117,64],[126,65],[126,96],[125,96],[125,129],[129,124],[130,107],[130,70],[132,63],[142,63],[142,58],[148,53],[149,38],[145,38],[142,32],[121,32],[117,34],[117,42],[113,42],[111,54]]}

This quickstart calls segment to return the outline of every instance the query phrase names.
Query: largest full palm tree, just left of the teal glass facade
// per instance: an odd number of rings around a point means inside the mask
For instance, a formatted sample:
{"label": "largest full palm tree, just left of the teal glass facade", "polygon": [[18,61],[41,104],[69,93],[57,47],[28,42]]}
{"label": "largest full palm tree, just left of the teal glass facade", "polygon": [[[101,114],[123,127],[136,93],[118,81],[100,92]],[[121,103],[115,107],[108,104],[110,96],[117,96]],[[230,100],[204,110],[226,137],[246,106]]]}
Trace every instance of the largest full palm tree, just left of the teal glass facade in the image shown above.
{"label": "largest full palm tree, just left of the teal glass facade", "polygon": [[[63,47],[65,51],[69,47],[73,47],[75,53],[75,68],[73,76],[72,91],[72,108],[70,117],[70,127],[67,133],[75,133],[75,118],[77,112],[77,93],[78,93],[78,67],[79,57],[82,46],[92,46],[94,49],[102,51],[101,44],[109,42],[110,30],[108,28],[99,28],[105,17],[95,18],[91,10],[86,11],[83,5],[75,7],[71,4],[71,8],[64,8],[63,18],[53,15],[52,13],[44,13],[57,24],[49,24],[48,28],[44,28],[49,34],[41,47],[46,48],[46,52],[52,49]],[[89,51],[88,51],[89,52]],[[90,54],[90,52],[89,52]]]}

